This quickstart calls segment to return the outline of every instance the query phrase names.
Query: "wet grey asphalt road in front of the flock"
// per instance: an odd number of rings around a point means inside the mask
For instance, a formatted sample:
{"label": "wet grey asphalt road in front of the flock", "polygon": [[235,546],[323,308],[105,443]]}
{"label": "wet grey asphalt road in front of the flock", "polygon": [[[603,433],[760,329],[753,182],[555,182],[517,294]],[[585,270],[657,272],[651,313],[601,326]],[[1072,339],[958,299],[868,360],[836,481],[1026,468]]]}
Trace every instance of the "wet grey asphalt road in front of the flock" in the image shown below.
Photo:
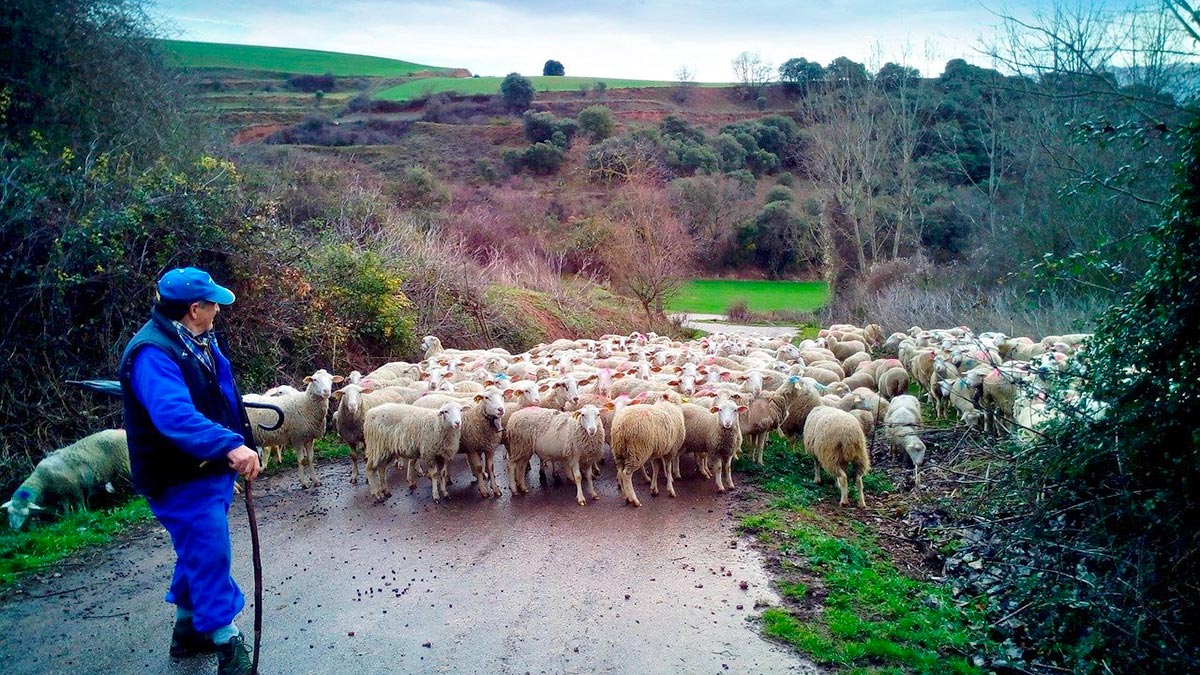
{"label": "wet grey asphalt road in front of the flock", "polygon": [[[758,637],[755,602],[774,603],[758,555],[733,531],[710,482],[679,498],[622,506],[572,488],[481,500],[456,461],[452,500],[428,482],[372,504],[347,460],[300,490],[293,471],[256,483],[263,545],[260,673],[775,674],[811,664]],[[394,470],[395,471],[395,470]],[[686,470],[685,470],[686,471]],[[503,470],[499,473],[504,479]],[[395,489],[398,486],[398,489]],[[234,575],[253,625],[245,506],[234,502]],[[156,524],[118,545],[20,584],[0,598],[5,674],[206,674],[215,657],[167,655],[173,565]],[[746,590],[740,589],[745,581]],[[740,605],[740,607],[739,607]]]}

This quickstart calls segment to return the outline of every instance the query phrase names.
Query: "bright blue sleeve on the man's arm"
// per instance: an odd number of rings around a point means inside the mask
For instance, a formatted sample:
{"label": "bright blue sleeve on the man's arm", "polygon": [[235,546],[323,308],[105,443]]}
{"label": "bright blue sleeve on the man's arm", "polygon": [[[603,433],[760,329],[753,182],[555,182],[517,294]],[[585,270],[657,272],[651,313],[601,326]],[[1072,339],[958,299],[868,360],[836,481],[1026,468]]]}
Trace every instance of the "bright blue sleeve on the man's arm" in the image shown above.
{"label": "bright blue sleeve on the man's arm", "polygon": [[175,362],[155,347],[133,357],[133,395],[146,407],[155,428],[179,449],[199,460],[224,460],[241,446],[241,434],[200,414]]}

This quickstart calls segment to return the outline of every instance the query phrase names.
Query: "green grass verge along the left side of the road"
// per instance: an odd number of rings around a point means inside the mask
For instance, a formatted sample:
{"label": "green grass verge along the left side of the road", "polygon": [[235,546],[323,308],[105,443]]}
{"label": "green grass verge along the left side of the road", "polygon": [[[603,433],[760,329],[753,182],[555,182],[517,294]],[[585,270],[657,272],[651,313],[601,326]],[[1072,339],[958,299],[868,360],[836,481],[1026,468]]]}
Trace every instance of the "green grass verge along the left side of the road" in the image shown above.
{"label": "green grass verge along the left side of the road", "polygon": [[[319,438],[314,450],[318,460],[342,459],[350,454],[336,435]],[[272,462],[265,474],[272,476],[295,466],[295,454],[286,450],[283,461]],[[146,501],[134,497],[102,509],[73,509],[55,521],[34,519],[20,532],[5,528],[0,531],[0,589],[26,573],[53,567],[72,555],[104,545],[130,526],[152,518]]]}

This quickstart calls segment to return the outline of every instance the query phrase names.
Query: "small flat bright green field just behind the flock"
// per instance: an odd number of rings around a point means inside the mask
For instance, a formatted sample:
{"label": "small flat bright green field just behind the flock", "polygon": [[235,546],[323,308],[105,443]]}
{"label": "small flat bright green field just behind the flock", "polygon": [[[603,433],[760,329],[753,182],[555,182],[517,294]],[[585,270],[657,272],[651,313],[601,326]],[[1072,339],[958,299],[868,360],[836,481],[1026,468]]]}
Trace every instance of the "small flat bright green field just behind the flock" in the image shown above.
{"label": "small flat bright green field just behind the flock", "polygon": [[823,281],[694,279],[683,286],[667,309],[674,312],[722,315],[738,300],[745,300],[754,312],[808,312],[829,300],[829,286]]}

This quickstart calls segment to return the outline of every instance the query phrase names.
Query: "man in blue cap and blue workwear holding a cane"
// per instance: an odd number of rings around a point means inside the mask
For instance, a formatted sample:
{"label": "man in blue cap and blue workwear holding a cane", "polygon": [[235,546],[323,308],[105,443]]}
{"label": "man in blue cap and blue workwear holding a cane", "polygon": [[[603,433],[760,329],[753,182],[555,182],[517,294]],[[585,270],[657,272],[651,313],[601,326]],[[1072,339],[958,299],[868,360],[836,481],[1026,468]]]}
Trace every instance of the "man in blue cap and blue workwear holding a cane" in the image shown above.
{"label": "man in blue cap and blue workwear holding a cane", "polygon": [[121,357],[120,381],[133,486],[170,533],[175,605],[170,656],[217,653],[217,675],[252,671],[234,619],[246,598],[233,579],[229,506],[236,477],[258,477],[250,420],[214,322],[234,301],[197,268],[158,280],[150,321]]}

